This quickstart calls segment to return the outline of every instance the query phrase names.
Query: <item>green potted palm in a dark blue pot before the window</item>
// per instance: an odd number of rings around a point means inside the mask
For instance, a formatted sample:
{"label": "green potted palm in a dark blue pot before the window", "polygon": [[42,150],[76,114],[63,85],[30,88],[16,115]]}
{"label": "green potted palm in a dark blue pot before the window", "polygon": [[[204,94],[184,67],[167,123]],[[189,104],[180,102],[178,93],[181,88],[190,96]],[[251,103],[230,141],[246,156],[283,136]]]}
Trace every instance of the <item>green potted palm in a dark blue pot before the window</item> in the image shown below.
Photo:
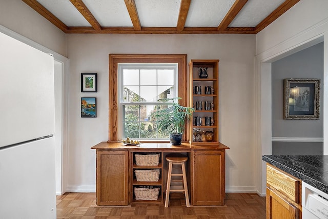
{"label": "green potted palm in a dark blue pot before the window", "polygon": [[179,105],[180,97],[158,99],[159,102],[173,102],[172,106],[159,109],[151,114],[156,121],[154,127],[160,134],[170,134],[172,145],[180,145],[182,133],[185,130],[185,124],[189,116],[192,115],[194,108]]}

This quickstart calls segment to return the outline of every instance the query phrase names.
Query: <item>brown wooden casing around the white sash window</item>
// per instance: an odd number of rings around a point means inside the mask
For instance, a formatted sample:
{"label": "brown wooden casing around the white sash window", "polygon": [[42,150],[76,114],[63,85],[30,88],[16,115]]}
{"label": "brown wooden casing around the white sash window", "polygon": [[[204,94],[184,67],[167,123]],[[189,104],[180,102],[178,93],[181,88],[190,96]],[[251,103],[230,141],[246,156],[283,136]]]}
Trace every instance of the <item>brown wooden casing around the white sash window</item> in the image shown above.
{"label": "brown wooden casing around the white sash window", "polygon": [[[178,63],[179,104],[188,104],[187,55],[186,54],[109,54],[109,105],[108,105],[108,141],[118,141],[118,63]],[[188,123],[186,124],[188,125]],[[182,141],[188,141],[188,127]]]}

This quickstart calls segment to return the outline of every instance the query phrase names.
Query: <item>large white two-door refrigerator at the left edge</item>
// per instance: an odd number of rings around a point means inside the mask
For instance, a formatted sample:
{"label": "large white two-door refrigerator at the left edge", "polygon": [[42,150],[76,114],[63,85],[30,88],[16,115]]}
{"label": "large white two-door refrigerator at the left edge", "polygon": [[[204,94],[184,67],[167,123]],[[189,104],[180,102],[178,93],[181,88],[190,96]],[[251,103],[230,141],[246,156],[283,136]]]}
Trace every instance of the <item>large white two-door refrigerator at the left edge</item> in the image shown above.
{"label": "large white two-door refrigerator at the left edge", "polygon": [[0,33],[0,218],[56,218],[54,59]]}

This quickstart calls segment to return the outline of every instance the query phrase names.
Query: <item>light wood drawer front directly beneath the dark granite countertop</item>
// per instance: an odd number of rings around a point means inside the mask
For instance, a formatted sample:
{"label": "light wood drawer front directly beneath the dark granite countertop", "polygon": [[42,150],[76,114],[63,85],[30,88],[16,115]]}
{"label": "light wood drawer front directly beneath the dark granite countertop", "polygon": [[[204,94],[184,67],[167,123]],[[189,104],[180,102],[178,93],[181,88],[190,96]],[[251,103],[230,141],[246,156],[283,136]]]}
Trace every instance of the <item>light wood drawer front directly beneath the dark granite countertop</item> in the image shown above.
{"label": "light wood drawer front directly beneath the dark granite countertop", "polygon": [[267,165],[267,184],[290,200],[299,203],[300,181],[271,165]]}

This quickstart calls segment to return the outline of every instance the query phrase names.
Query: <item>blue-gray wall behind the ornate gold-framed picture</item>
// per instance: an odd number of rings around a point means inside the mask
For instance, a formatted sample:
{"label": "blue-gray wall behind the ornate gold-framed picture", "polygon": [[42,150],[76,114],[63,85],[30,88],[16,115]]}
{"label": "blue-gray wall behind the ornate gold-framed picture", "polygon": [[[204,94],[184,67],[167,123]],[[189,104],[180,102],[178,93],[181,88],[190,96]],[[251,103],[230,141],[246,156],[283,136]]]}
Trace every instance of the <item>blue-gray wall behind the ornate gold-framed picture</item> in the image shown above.
{"label": "blue-gray wall behind the ornate gold-framed picture", "polygon": [[[319,78],[319,120],[283,119],[283,79]],[[272,137],[323,138],[323,43],[272,63]],[[323,142],[273,142],[272,154],[323,154]]]}

